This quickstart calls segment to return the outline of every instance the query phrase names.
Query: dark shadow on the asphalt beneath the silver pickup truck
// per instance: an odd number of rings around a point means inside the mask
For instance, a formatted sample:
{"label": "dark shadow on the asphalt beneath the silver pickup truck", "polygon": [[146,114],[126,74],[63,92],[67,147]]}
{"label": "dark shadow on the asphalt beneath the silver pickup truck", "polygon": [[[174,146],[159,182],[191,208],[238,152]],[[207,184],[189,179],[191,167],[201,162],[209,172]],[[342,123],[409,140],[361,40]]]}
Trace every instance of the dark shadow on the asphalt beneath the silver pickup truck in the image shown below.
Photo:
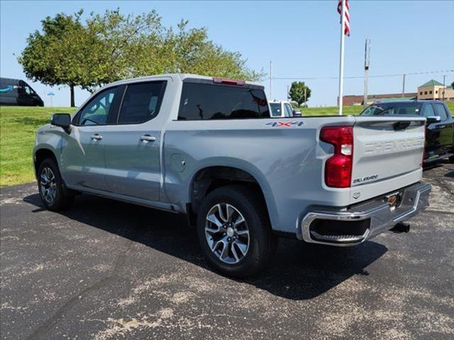
{"label": "dark shadow on the asphalt beneath the silver pickup truck", "polygon": [[[38,193],[23,200],[37,207],[33,212],[45,211]],[[210,270],[199,249],[196,232],[187,226],[184,215],[87,194],[77,196],[72,208],[58,214]],[[275,257],[265,272],[255,278],[236,281],[280,297],[307,300],[326,293],[352,276],[369,275],[366,267],[386,252],[386,246],[370,241],[352,248],[338,248],[279,239]]]}

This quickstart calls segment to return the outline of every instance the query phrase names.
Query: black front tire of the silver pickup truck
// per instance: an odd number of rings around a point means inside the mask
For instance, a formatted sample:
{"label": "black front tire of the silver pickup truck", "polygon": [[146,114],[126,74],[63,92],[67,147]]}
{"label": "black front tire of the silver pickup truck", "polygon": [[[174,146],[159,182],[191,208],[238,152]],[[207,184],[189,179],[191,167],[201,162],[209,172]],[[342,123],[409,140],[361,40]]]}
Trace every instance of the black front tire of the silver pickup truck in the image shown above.
{"label": "black front tire of the silver pickup truck", "polygon": [[[50,172],[47,169],[50,169],[53,178],[55,178],[55,184],[53,186],[50,184],[43,185],[45,183],[43,176],[52,178],[52,176],[48,176]],[[51,196],[45,191],[46,188],[50,188],[51,186],[55,188],[53,199],[50,199]],[[69,207],[74,201],[74,194],[65,188],[58,166],[52,158],[44,159],[38,167],[38,191],[40,192],[41,201],[48,210],[62,210]]]}

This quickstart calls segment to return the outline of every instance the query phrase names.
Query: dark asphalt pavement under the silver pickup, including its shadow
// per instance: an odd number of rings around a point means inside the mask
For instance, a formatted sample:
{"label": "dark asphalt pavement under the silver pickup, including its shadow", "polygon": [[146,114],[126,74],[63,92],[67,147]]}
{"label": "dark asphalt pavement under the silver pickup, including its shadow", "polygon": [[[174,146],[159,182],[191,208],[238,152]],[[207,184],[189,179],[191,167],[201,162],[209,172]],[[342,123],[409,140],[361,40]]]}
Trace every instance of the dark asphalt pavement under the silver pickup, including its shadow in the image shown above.
{"label": "dark asphalt pavement under the silver pickup, including its shadow", "polygon": [[1,339],[454,339],[454,166],[409,234],[280,240],[251,280],[210,271],[184,217],[34,184],[1,191]]}

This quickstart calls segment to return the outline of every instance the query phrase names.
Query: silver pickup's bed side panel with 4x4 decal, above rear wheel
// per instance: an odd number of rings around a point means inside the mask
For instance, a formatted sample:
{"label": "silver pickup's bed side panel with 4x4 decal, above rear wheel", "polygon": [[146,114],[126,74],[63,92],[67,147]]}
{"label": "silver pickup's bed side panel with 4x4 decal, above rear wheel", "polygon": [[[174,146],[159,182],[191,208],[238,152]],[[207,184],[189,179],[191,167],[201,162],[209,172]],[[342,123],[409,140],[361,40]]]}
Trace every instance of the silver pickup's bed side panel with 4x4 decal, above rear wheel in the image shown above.
{"label": "silver pickup's bed side panel with 4x4 decal, above rear wheel", "polygon": [[[319,130],[324,125],[353,125],[354,121],[353,117],[173,120],[163,138],[167,199],[184,211],[198,171],[231,166],[258,181],[273,229],[295,232],[297,220],[309,205],[348,203],[350,188],[323,185],[323,164],[333,147],[319,141]],[[182,161],[184,169],[179,166]]]}

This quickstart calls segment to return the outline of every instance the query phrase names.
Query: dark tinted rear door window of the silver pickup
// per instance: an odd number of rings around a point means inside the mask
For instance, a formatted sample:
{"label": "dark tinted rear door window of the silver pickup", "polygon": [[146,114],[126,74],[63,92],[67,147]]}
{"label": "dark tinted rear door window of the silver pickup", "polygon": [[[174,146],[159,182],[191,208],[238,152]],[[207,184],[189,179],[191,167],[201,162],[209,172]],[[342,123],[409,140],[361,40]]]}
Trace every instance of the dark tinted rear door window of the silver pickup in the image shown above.
{"label": "dark tinted rear door window of the silver pickup", "polygon": [[128,85],[121,104],[118,124],[140,124],[159,113],[166,81]]}

